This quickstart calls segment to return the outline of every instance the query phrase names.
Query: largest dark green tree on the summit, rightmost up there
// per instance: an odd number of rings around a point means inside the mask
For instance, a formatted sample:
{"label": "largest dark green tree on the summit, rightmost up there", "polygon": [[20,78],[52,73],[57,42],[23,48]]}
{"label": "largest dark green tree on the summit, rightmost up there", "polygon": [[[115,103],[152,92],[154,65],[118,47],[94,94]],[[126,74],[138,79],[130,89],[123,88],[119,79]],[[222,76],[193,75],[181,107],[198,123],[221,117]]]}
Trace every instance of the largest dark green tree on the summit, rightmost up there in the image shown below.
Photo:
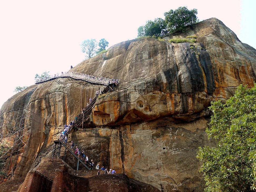
{"label": "largest dark green tree on the summit, rightmost up there", "polygon": [[170,33],[183,31],[188,25],[193,25],[197,21],[197,9],[189,10],[187,7],[179,7],[169,12],[165,12],[165,23],[167,24],[167,30]]}

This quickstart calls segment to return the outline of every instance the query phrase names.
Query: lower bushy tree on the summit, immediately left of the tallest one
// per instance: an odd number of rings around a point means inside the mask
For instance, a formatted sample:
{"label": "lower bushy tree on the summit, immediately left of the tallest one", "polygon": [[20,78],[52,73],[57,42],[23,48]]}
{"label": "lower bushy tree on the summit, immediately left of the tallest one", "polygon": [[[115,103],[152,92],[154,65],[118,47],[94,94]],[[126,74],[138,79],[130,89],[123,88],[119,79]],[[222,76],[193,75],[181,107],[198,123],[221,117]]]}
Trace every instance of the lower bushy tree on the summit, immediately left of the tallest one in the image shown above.
{"label": "lower bushy tree on the summit, immediately left of the tallest one", "polygon": [[147,21],[144,26],[138,28],[138,37],[139,36],[150,36],[150,37],[159,37],[167,33],[166,24],[164,19],[157,18],[154,21]]}

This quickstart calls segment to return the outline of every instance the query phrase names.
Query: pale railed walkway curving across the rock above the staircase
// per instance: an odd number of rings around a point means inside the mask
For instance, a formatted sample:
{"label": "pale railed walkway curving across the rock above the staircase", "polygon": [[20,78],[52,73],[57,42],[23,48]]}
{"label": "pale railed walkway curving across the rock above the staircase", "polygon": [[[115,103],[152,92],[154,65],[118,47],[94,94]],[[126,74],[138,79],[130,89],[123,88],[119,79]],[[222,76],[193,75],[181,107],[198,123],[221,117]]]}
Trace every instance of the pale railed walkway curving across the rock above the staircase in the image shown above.
{"label": "pale railed walkway curving across the rock above the staircase", "polygon": [[102,84],[105,85],[107,83],[118,83],[117,79],[110,79],[110,78],[103,78],[103,77],[99,77],[99,76],[94,76],[94,75],[86,75],[86,74],[82,74],[82,73],[77,73],[77,72],[61,72],[61,73],[57,73],[55,75],[51,75],[49,77],[45,77],[45,78],[37,78],[35,80],[35,84],[38,83],[43,83],[46,81],[50,81],[56,78],[64,78],[64,77],[71,77],[77,80],[83,80],[83,81],[87,81],[90,83],[98,83],[98,84]]}

